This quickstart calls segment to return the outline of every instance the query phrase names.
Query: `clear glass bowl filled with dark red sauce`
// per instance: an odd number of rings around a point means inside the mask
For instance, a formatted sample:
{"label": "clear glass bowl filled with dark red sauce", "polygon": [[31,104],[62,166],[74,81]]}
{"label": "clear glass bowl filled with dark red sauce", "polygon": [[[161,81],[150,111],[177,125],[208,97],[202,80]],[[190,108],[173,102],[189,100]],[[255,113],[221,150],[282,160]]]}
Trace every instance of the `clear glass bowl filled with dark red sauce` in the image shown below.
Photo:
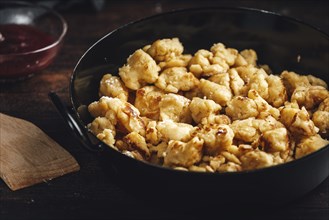
{"label": "clear glass bowl filled with dark red sauce", "polygon": [[0,81],[31,77],[58,54],[67,23],[54,10],[27,2],[0,2]]}

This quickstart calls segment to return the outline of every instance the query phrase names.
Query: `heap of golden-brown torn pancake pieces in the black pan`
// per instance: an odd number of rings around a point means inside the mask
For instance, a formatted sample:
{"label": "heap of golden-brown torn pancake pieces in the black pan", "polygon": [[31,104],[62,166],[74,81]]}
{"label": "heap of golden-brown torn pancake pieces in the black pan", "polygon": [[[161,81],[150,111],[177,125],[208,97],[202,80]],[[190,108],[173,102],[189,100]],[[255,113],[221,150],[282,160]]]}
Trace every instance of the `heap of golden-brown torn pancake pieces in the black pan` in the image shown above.
{"label": "heap of golden-brown torn pancake pieces in the black pan", "polygon": [[198,172],[269,167],[328,145],[327,83],[257,60],[253,49],[184,54],[178,38],[156,40],[104,73],[88,129],[137,160]]}

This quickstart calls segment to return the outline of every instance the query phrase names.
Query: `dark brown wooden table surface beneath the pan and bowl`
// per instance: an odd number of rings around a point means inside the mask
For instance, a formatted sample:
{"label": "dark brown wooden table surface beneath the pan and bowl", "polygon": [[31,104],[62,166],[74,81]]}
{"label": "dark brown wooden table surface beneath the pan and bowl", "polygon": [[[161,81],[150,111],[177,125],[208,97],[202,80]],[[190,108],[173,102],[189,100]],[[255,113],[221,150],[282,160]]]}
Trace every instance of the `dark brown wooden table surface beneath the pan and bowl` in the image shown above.
{"label": "dark brown wooden table surface beneath the pan and bowl", "polygon": [[[72,1],[74,2],[74,1]],[[76,2],[76,1],[75,1]],[[111,1],[100,11],[78,2],[58,10],[68,22],[64,47],[41,74],[19,83],[1,84],[0,112],[29,120],[67,149],[81,170],[49,182],[11,191],[0,180],[0,219],[328,219],[329,178],[302,198],[282,207],[248,212],[243,207],[180,210],[148,203],[107,175],[97,156],[72,136],[48,99],[54,90],[69,103],[69,78],[84,51],[97,39],[127,22],[186,7],[245,6],[274,11],[315,25],[328,33],[327,1]],[[1,152],[0,152],[1,153]],[[157,196],[157,195],[156,195]],[[158,195],[161,199],[161,194]]]}

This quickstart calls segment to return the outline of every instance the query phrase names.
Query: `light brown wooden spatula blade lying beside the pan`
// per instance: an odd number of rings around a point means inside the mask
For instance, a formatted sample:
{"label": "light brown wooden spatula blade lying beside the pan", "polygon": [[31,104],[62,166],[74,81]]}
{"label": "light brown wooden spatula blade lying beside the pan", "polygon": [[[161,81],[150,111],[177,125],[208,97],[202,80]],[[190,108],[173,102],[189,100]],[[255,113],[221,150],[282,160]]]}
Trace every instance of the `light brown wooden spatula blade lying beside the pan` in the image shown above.
{"label": "light brown wooden spatula blade lying beside the pan", "polygon": [[34,124],[0,113],[0,177],[12,190],[78,171],[79,164]]}

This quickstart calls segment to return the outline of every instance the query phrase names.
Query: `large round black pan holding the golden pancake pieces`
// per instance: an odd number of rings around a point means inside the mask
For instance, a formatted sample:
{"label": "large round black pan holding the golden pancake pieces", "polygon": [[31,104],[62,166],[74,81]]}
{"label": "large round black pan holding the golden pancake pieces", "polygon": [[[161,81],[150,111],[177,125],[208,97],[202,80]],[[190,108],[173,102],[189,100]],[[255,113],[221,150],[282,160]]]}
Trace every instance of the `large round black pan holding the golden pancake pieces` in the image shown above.
{"label": "large round black pan holding the golden pancake pieces", "polygon": [[[110,21],[109,21],[110,22]],[[286,164],[235,173],[184,172],[127,157],[87,132],[86,106],[98,100],[104,73],[117,70],[136,49],[156,39],[179,37],[184,53],[222,42],[256,50],[260,64],[313,74],[327,83],[328,35],[292,18],[245,8],[201,8],[164,13],[127,24],[91,46],[76,65],[70,84],[73,110],[50,97],[84,146],[98,152],[104,170],[115,170],[120,184],[145,198],[180,204],[282,204],[310,192],[329,174],[329,146]],[[297,57],[300,56],[300,62]],[[71,114],[70,114],[71,113]],[[167,201],[167,200],[166,200]]]}

